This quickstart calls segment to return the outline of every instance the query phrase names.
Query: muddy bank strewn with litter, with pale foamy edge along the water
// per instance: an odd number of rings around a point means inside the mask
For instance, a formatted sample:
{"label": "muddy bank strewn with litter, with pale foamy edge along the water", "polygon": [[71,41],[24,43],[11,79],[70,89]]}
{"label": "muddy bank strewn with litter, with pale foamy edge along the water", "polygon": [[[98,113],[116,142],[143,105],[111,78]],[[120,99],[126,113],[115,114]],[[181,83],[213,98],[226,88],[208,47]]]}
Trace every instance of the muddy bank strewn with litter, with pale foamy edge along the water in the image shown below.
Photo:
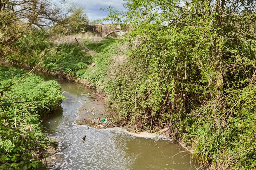
{"label": "muddy bank strewn with litter, with pale foamy edge along the water", "polygon": [[[124,133],[140,137],[140,138],[162,138],[169,141],[174,141],[173,138],[170,138],[170,132],[168,128],[161,129],[155,133],[149,133],[147,131],[135,132],[135,129],[128,131],[128,127],[119,126],[118,124],[113,124],[106,115],[106,103],[104,99],[93,94],[81,94],[86,96],[88,99],[80,101],[81,106],[78,108],[78,114],[75,124],[77,125],[87,125],[95,129],[101,130],[117,130]],[[175,140],[176,141],[176,140]],[[183,148],[185,148],[190,153],[192,152],[192,147],[189,143],[185,143],[182,140],[177,141]]]}

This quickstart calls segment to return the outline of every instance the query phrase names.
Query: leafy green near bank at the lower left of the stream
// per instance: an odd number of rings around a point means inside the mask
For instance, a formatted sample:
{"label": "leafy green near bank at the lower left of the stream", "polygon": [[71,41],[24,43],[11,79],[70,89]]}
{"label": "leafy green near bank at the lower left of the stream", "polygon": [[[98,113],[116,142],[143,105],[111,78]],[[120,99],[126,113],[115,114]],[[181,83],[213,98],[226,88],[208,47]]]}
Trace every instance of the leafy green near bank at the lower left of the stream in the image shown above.
{"label": "leafy green near bank at the lower left of the stream", "polygon": [[0,168],[45,169],[43,149],[51,143],[40,122],[65,99],[57,82],[26,74],[0,65]]}

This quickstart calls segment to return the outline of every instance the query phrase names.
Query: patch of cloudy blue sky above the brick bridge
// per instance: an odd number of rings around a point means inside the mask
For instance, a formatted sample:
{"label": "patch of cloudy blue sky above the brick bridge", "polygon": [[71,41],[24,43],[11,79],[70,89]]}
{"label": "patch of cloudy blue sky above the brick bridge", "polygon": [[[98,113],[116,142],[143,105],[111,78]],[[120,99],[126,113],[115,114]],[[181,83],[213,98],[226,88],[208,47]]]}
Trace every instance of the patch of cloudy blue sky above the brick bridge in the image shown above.
{"label": "patch of cloudy blue sky above the brick bridge", "polygon": [[85,13],[90,20],[106,17],[108,13],[99,10],[99,8],[107,8],[109,5],[115,7],[117,10],[124,10],[123,0],[73,0],[73,2],[85,5]]}

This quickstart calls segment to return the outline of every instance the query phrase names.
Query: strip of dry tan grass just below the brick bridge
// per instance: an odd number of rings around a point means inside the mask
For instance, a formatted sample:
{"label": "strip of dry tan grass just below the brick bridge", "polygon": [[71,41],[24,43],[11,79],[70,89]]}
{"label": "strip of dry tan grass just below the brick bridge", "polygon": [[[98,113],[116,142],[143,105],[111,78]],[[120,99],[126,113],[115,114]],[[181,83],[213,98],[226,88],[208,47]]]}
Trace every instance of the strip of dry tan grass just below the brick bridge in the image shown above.
{"label": "strip of dry tan grass just below the brick bridge", "polygon": [[[99,37],[97,34],[93,34],[92,32],[85,32],[84,34],[74,34],[74,35],[69,35],[69,36],[52,36],[49,39],[54,41],[54,44],[59,45],[59,44],[76,44],[76,39],[84,39],[84,38],[94,38],[94,37]],[[81,41],[81,40],[80,40]]]}

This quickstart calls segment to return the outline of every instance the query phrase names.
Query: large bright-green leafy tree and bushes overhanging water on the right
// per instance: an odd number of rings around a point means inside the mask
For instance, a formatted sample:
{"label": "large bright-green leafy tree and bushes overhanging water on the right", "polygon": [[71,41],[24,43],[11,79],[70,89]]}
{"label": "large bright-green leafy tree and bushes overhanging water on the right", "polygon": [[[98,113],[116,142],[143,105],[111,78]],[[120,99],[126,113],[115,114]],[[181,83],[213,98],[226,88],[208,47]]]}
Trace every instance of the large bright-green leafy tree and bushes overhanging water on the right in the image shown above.
{"label": "large bright-green leafy tree and bushes overhanging water on the right", "polygon": [[256,146],[254,128],[247,129],[256,127],[256,100],[249,97],[256,95],[255,6],[255,0],[127,0],[125,11],[109,7],[106,20],[134,27],[126,36],[132,52],[111,79],[111,109],[136,128],[165,126],[192,141],[203,164],[255,167],[253,150],[232,156]]}

